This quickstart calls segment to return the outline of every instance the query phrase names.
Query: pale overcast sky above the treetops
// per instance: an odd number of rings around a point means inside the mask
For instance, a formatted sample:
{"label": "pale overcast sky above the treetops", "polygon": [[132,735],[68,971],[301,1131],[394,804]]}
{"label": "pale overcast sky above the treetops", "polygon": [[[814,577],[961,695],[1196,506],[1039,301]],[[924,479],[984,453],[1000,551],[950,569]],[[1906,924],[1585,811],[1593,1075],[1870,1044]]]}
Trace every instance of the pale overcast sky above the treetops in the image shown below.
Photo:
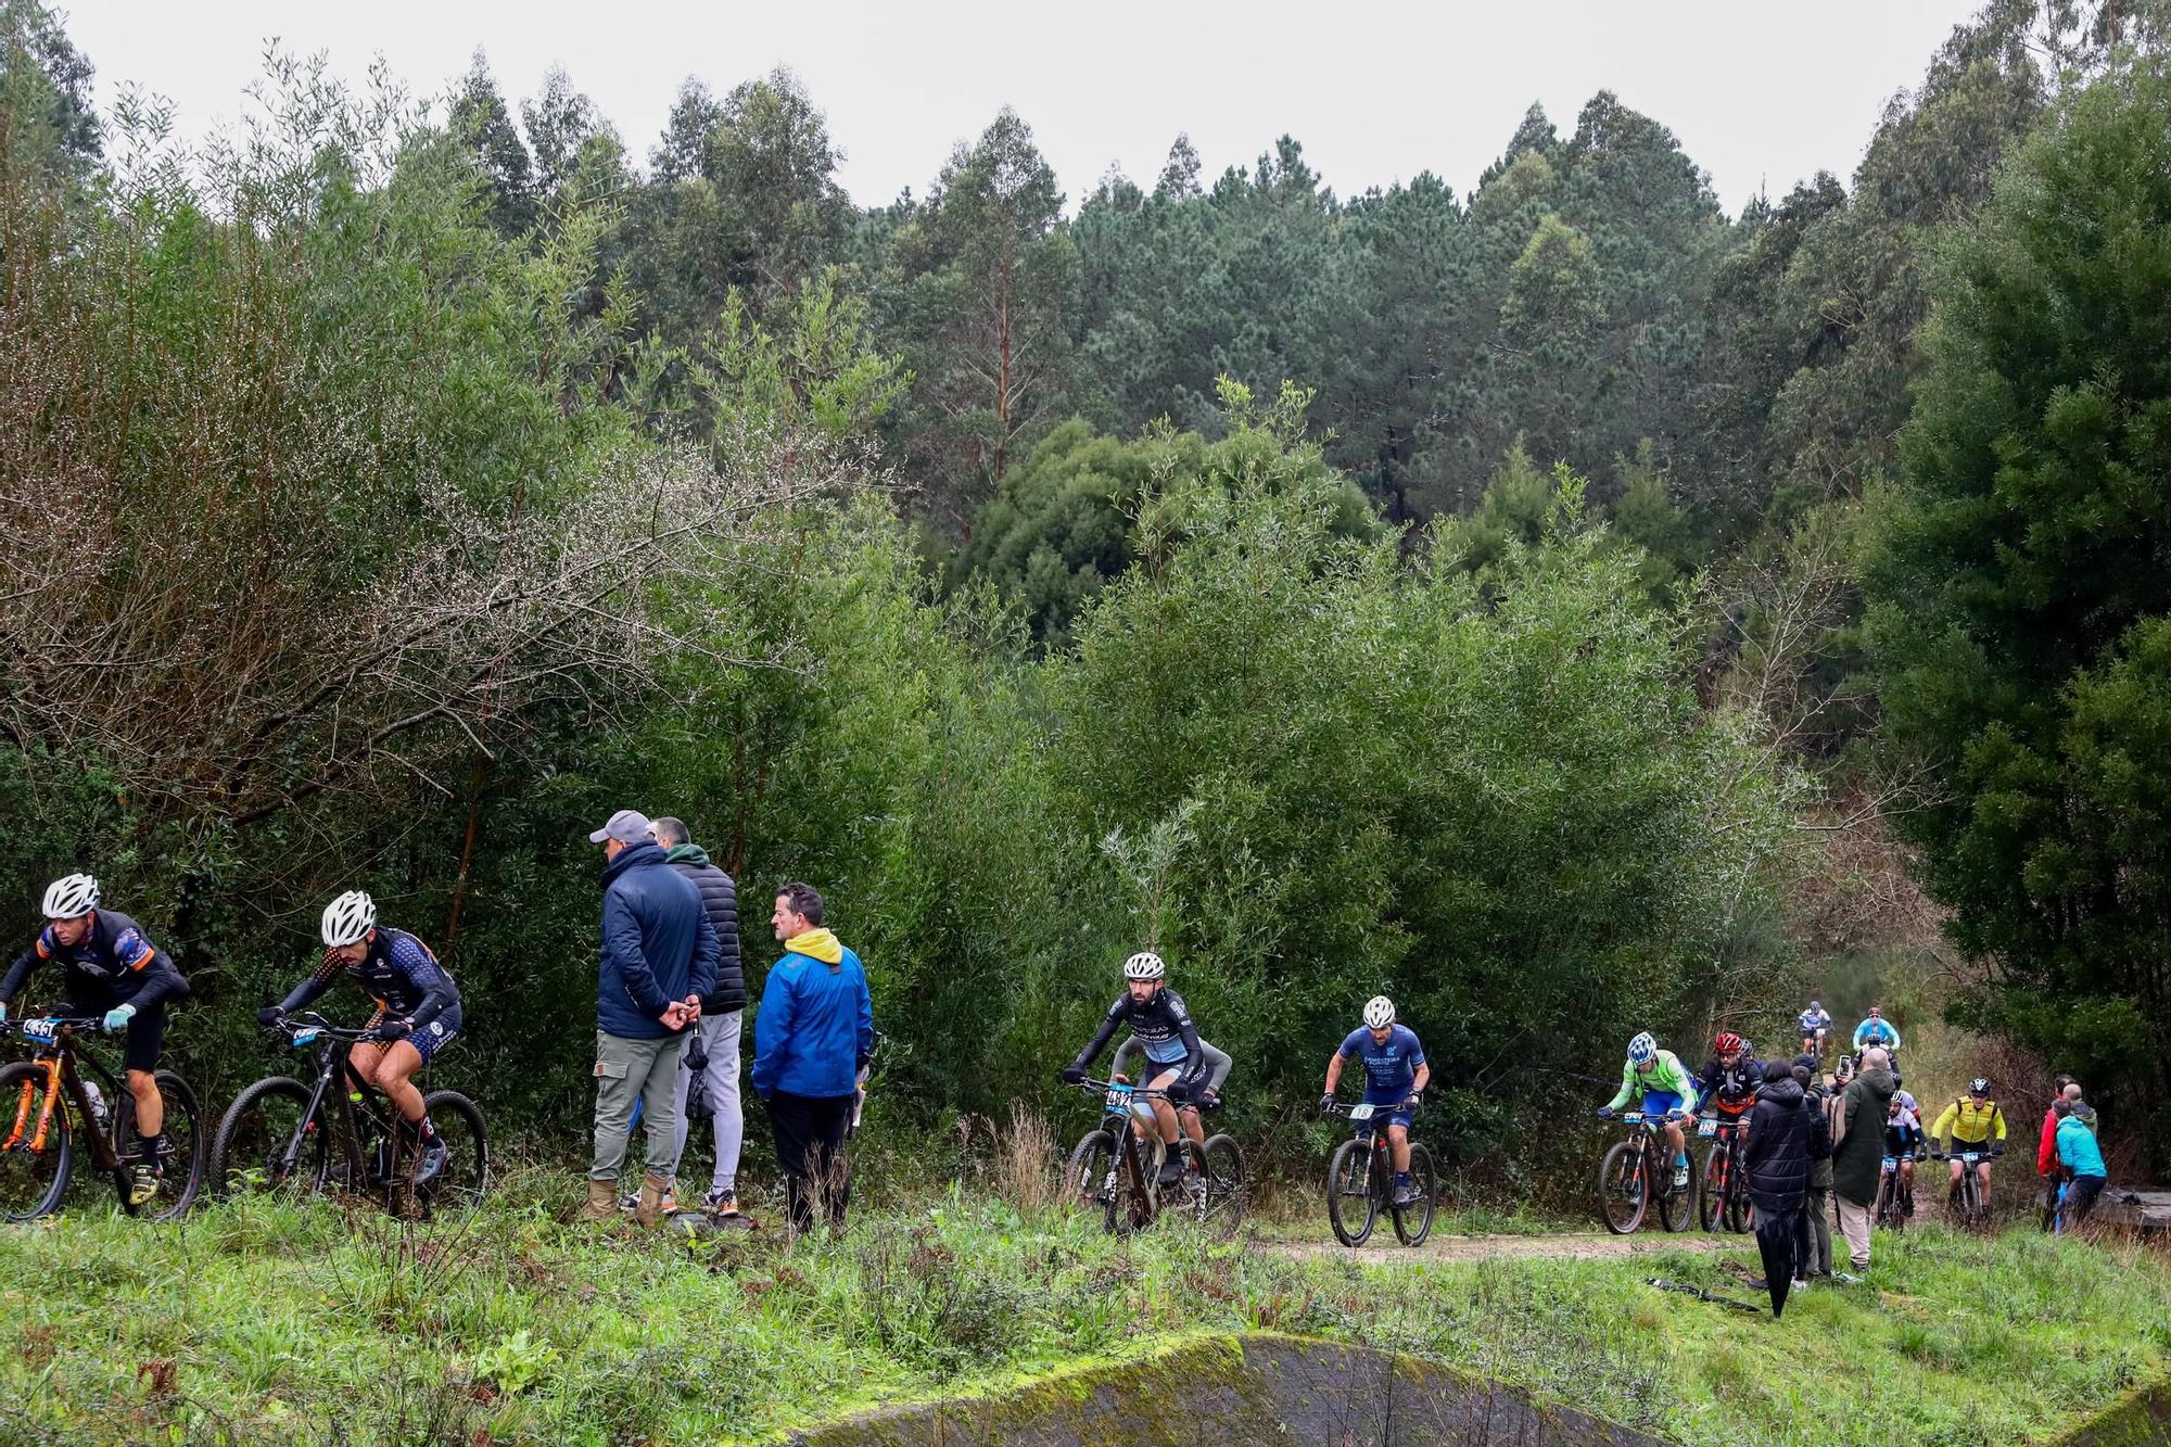
{"label": "pale overcast sky above the treetops", "polygon": [[1424,169],[1468,191],[1533,100],[1570,133],[1611,89],[1739,211],[1819,167],[1845,178],[1884,100],[1978,2],[78,0],[67,28],[102,109],[141,85],[176,102],[182,137],[241,113],[271,37],[350,76],[382,54],[417,96],[445,93],[482,46],[515,106],[564,65],[638,159],[686,76],[723,93],[782,63],[829,113],[860,204],[923,193],[1005,104],[1072,209],[1109,165],[1151,185],[1177,133],[1209,178],[1287,133],[1342,196]]}

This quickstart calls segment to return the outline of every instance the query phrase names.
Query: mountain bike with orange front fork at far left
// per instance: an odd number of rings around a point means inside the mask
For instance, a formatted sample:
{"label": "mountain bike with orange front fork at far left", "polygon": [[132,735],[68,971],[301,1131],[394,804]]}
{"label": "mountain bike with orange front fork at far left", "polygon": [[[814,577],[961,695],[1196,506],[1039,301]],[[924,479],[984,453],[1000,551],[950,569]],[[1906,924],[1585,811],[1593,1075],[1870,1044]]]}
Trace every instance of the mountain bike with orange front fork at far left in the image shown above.
{"label": "mountain bike with orange front fork at far left", "polygon": [[[158,1195],[141,1206],[128,1204],[128,1167],[141,1149],[135,1095],[98,1056],[80,1049],[76,1039],[102,1023],[93,1015],[0,1026],[0,1036],[15,1034],[33,1049],[28,1060],[0,1067],[0,1125],[7,1125],[0,1136],[0,1219],[33,1221],[61,1208],[76,1167],[78,1134],[89,1145],[91,1165],[113,1182],[122,1210],[130,1217],[172,1221],[195,1204],[204,1180],[204,1132],[195,1091],[174,1071],[152,1075],[165,1099]],[[7,1117],[9,1106],[13,1119]]]}

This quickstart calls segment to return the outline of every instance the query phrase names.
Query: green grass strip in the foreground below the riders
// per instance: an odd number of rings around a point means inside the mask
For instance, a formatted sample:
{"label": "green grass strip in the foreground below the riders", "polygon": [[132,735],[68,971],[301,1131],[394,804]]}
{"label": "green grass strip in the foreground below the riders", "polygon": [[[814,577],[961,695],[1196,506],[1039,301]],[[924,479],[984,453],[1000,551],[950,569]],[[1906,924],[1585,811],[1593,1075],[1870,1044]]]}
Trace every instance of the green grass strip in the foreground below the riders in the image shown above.
{"label": "green grass strip in the foreground below the riders", "polygon": [[[716,1443],[1268,1328],[1448,1360],[1667,1438],[1976,1443],[2073,1425],[2171,1360],[2171,1273],[2013,1232],[1880,1238],[1785,1323],[1719,1256],[1359,1264],[1138,1243],[951,1193],[840,1241],[591,1236],[573,1182],[397,1225],[241,1204],[0,1232],[0,1443]],[[530,1201],[530,1204],[519,1204]]]}

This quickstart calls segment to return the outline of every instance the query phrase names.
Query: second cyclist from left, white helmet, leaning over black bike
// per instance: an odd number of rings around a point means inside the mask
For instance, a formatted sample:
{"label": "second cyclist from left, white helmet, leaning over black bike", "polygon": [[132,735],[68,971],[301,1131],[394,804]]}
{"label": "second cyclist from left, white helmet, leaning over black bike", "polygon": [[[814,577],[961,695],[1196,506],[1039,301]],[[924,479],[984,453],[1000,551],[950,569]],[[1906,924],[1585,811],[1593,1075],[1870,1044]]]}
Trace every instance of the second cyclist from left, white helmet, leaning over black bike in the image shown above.
{"label": "second cyclist from left, white helmet, leaning over black bike", "polygon": [[384,1091],[415,1130],[421,1141],[415,1180],[436,1180],[445,1169],[445,1141],[436,1134],[428,1106],[421,1104],[415,1073],[460,1034],[460,986],[430,954],[430,945],[406,930],[378,928],[378,906],[358,889],[323,906],[319,934],[323,958],[317,960],[317,969],[293,986],[287,999],[258,1010],[256,1021],[276,1028],[332,989],[341,976],[354,980],[378,1004],[378,1012],[369,1017],[378,1041],[352,1045],[347,1069]]}

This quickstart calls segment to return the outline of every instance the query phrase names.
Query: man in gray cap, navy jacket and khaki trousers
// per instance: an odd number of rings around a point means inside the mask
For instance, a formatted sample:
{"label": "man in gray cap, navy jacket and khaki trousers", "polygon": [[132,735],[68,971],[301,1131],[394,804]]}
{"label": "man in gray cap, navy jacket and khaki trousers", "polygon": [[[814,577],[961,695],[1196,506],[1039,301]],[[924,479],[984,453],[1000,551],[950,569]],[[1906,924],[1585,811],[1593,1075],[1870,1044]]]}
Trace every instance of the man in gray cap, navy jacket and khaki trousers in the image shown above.
{"label": "man in gray cap, navy jacket and khaki trousers", "polygon": [[716,984],[716,930],[701,893],[649,839],[645,815],[621,808],[588,843],[604,845],[604,947],[595,989],[595,1160],[582,1217],[619,1215],[619,1167],[638,1099],[649,1152],[634,1219],[656,1225],[677,1175],[684,1030]]}

